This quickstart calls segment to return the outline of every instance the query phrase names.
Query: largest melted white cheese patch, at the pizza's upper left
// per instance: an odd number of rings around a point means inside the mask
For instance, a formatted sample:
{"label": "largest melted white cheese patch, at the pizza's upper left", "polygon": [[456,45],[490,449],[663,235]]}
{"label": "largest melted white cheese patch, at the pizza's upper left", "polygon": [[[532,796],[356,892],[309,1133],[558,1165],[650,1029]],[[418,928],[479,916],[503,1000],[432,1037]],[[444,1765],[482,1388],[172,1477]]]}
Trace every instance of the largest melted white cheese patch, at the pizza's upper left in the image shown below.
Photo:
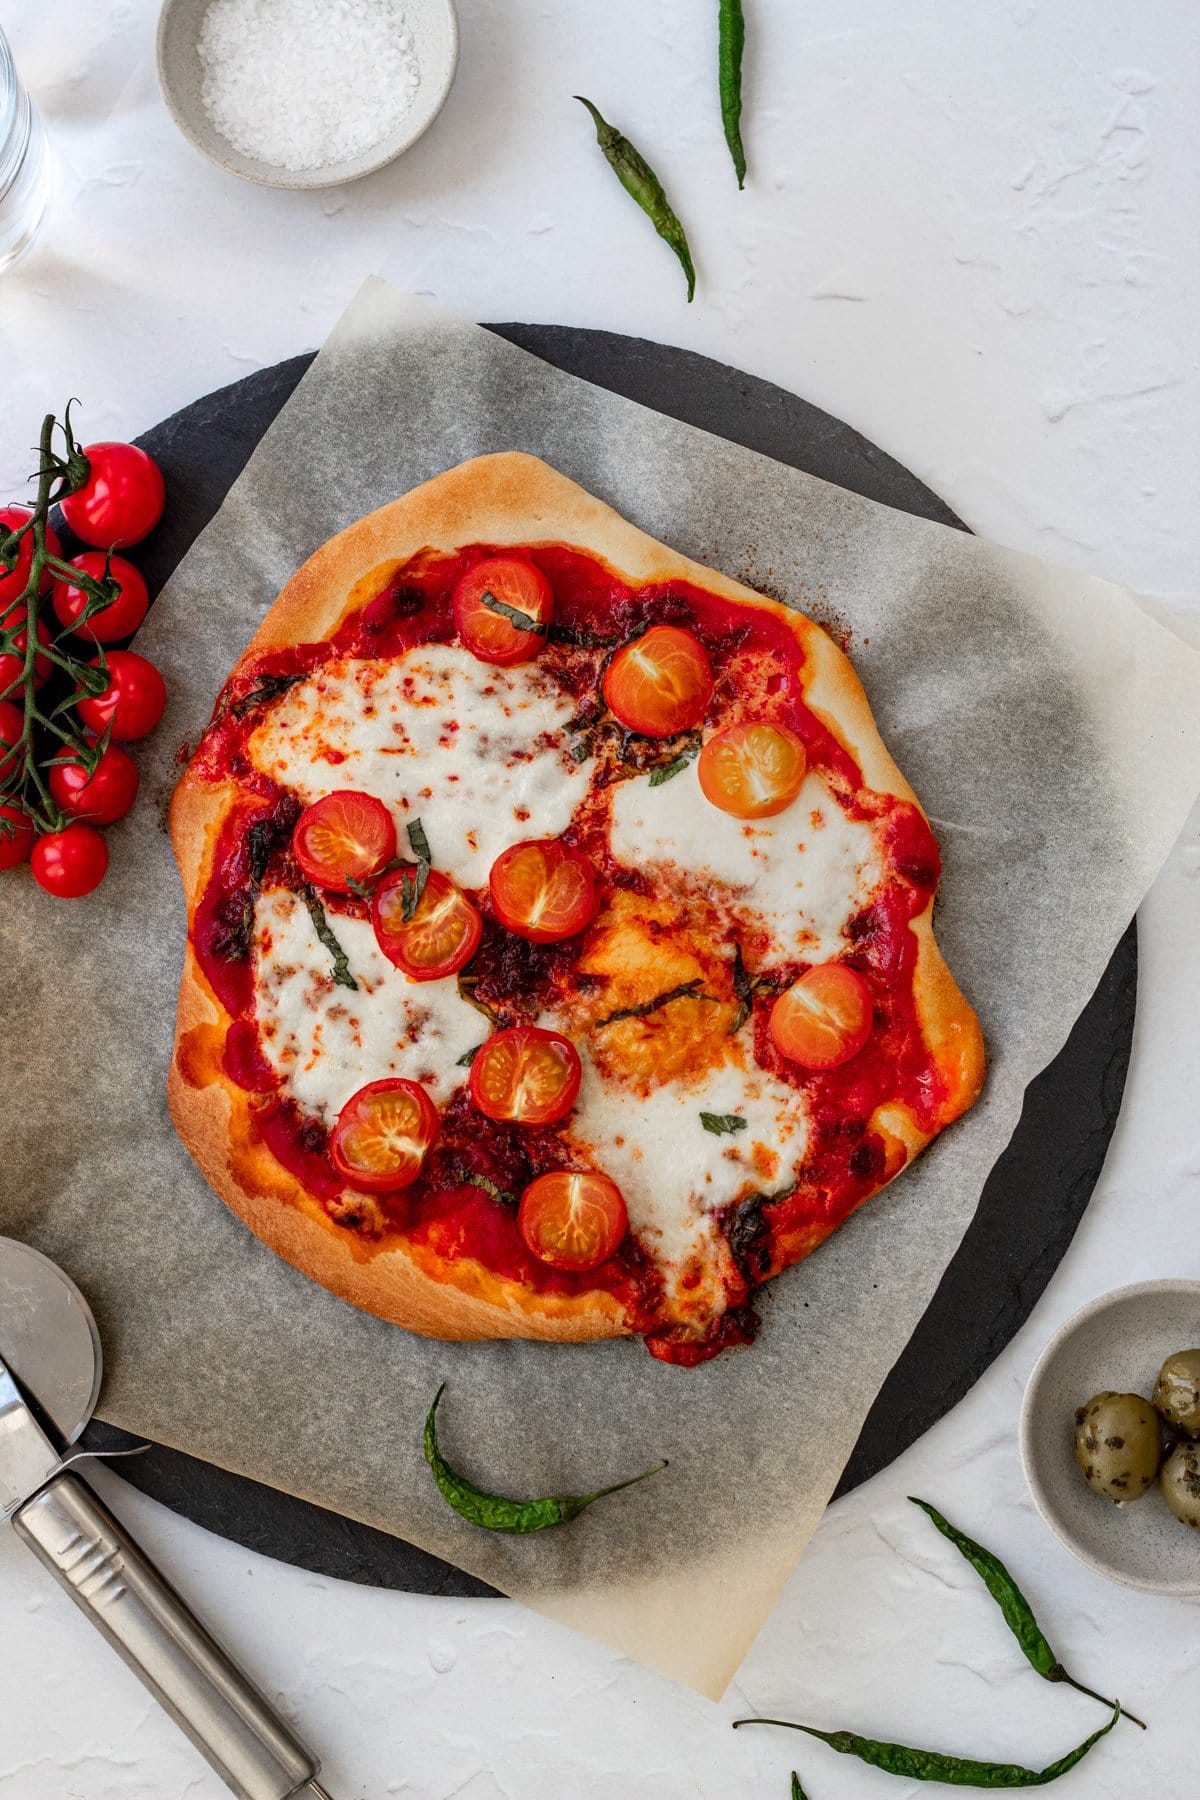
{"label": "largest melted white cheese patch, at the pizza's upper left", "polygon": [[486,887],[502,850],[558,837],[588,792],[592,763],[569,754],[576,704],[534,662],[502,670],[453,644],[392,662],[327,662],[270,709],[252,761],[302,801],[336,788],[419,817],[434,860]]}

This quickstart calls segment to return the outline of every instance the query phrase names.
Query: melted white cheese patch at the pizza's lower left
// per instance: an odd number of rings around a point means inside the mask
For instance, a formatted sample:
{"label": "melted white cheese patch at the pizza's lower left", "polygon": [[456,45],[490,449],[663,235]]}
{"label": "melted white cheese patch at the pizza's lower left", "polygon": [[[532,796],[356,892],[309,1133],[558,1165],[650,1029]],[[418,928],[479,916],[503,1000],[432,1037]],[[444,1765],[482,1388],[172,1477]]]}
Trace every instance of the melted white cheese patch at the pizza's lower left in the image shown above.
{"label": "melted white cheese patch at the pizza's lower left", "polygon": [[453,976],[410,981],[380,950],[369,920],[329,914],[358,992],[336,986],[329,950],[297,895],[272,889],[254,911],[263,1053],[304,1112],[333,1125],[367,1082],[423,1082],[444,1105],[462,1057],[488,1033]]}

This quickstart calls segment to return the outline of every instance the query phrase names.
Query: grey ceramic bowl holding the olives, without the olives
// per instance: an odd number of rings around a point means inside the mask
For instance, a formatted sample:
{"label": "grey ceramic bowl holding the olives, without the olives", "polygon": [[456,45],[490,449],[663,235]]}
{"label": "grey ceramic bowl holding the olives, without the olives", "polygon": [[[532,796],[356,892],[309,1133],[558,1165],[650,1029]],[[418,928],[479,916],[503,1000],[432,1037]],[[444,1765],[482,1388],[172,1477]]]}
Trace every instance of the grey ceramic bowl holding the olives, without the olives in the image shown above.
{"label": "grey ceramic bowl holding the olives, without the olives", "polygon": [[1155,1487],[1114,1507],[1074,1460],[1074,1411],[1094,1393],[1144,1393],[1173,1350],[1200,1345],[1200,1282],[1139,1282],[1101,1294],[1038,1357],[1020,1413],[1020,1454],[1045,1523],[1097,1575],[1148,1593],[1200,1595],[1200,1532]]}

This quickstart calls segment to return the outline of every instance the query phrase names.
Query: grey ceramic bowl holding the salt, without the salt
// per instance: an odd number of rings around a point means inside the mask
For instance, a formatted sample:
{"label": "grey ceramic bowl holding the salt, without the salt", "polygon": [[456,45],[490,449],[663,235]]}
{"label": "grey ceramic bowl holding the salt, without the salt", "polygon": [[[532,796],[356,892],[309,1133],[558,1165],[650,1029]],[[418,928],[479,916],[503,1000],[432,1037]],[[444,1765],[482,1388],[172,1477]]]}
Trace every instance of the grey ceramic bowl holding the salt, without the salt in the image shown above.
{"label": "grey ceramic bowl holding the salt, without the salt", "polygon": [[209,5],[210,0],[166,0],[158,14],[158,85],[184,137],[191,139],[210,162],[228,169],[230,175],[239,175],[243,182],[259,182],[264,187],[336,187],[342,182],[356,182],[360,175],[381,169],[416,144],[450,94],[459,63],[459,22],[453,0],[405,0],[421,65],[421,85],[394,131],[358,157],[329,162],[320,169],[282,169],[257,157],[246,157],[221,137],[200,99],[203,65],[196,45]]}

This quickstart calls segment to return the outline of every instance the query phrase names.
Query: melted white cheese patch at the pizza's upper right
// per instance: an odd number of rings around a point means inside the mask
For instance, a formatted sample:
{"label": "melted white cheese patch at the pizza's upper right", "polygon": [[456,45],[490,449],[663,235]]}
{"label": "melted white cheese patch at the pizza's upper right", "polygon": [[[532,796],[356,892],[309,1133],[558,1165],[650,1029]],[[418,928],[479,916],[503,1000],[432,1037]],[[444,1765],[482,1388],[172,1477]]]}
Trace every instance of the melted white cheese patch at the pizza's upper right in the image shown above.
{"label": "melted white cheese patch at the pizza's upper right", "polygon": [[774,819],[734,819],[712,806],[694,763],[657,788],[622,781],[613,792],[610,842],[631,868],[673,864],[693,878],[716,878],[759,914],[781,949],[810,961],[844,950],[847,920],[883,873],[874,828],[847,819],[811,772]]}

